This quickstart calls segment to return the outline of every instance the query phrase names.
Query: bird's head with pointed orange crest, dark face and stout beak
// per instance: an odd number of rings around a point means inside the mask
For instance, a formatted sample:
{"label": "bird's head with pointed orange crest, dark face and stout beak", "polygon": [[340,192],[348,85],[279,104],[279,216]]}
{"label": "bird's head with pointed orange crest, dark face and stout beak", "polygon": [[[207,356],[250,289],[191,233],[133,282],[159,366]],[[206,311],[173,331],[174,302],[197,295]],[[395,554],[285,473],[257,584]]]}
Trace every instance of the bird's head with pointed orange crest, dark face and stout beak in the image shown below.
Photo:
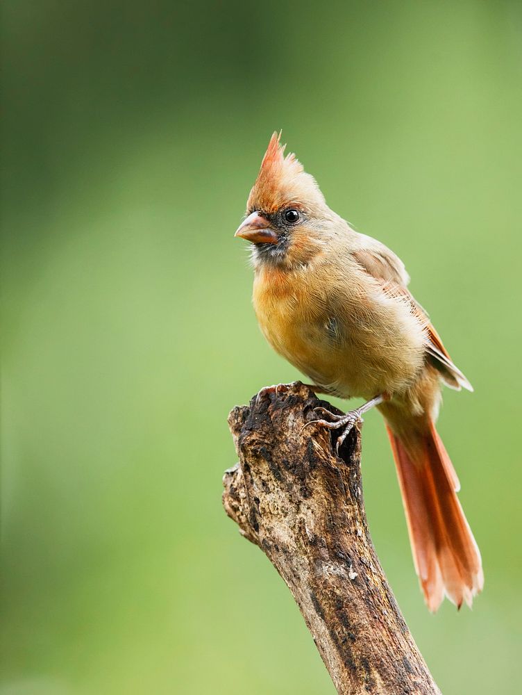
{"label": "bird's head with pointed orange crest, dark face and stout beak", "polygon": [[253,245],[253,264],[292,269],[321,252],[323,232],[334,215],[314,177],[294,154],[285,156],[273,133],[235,236]]}

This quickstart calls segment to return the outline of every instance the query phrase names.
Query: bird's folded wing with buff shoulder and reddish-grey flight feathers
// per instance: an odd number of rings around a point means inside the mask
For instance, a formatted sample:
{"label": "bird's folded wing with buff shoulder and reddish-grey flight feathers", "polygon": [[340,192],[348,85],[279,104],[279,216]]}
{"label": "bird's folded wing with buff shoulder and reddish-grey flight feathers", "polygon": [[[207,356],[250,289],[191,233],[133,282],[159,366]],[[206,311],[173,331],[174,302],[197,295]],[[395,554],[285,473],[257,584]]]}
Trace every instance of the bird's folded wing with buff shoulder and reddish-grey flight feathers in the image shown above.
{"label": "bird's folded wing with buff shoulder and reddish-grey flight feathers", "polygon": [[369,275],[380,281],[382,290],[387,295],[407,303],[412,314],[419,319],[425,329],[428,360],[439,371],[444,383],[451,386],[452,389],[457,389],[457,391],[462,388],[473,391],[473,386],[468,379],[451,361],[439,334],[430,323],[428,313],[414,300],[407,289],[410,276],[405,270],[403,261],[384,244],[370,237],[364,237],[364,246],[360,245],[353,250],[352,255]]}

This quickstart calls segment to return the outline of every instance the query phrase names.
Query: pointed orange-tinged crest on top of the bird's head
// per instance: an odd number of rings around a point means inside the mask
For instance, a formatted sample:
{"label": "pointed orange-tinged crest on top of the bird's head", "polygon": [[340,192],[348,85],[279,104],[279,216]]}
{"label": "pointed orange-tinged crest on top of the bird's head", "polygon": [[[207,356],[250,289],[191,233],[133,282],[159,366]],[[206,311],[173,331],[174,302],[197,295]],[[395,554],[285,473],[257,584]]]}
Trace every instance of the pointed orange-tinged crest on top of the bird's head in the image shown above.
{"label": "pointed orange-tinged crest on top of the bird's head", "polygon": [[317,197],[324,202],[314,178],[305,173],[293,152],[285,156],[286,145],[281,145],[280,140],[280,132],[272,134],[249,196],[249,209],[273,212]]}

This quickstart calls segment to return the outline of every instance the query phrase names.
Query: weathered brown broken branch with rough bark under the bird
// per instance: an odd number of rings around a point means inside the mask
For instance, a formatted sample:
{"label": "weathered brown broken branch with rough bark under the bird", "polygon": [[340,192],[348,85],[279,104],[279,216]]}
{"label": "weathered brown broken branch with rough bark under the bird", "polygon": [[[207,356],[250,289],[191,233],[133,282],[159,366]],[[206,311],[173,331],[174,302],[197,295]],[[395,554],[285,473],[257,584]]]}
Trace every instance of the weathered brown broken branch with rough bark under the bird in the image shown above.
{"label": "weathered brown broken branch with rough bark under the bird", "polygon": [[336,411],[296,382],[233,409],[239,463],[224,476],[226,513],[292,591],[337,692],[439,693],[371,542],[360,432],[338,457],[330,431],[303,431],[319,405]]}

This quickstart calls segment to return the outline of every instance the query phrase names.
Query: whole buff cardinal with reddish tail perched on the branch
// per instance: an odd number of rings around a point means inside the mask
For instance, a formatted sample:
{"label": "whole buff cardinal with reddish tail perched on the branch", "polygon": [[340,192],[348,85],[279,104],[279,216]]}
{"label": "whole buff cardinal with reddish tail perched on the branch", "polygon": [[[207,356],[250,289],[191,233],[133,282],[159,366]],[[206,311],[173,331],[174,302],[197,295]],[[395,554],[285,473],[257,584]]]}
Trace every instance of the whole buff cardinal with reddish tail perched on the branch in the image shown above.
{"label": "whole buff cardinal with reddish tail perched on the branch", "polygon": [[435,430],[441,382],[471,385],[407,290],[404,265],[330,210],[294,154],[273,133],[235,235],[252,243],[253,302],[272,347],[313,388],[367,402],[325,427],[347,432],[369,408],[385,417],[416,573],[428,608],[444,593],[458,607],[484,582],[480,553]]}

